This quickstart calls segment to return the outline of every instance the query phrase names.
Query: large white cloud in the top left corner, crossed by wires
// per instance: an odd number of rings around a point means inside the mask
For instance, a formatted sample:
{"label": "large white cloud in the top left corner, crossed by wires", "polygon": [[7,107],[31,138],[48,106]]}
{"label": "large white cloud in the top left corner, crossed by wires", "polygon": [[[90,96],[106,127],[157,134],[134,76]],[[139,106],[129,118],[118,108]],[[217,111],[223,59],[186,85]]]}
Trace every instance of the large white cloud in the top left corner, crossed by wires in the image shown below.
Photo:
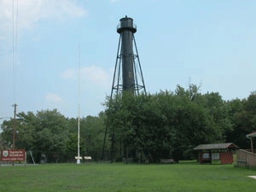
{"label": "large white cloud in the top left corner, crossed by wires", "polygon": [[[15,2],[15,18],[17,0]],[[0,0],[0,27],[11,27],[13,17],[13,1]],[[32,28],[38,20],[66,20],[68,17],[86,15],[84,8],[79,7],[73,0],[19,0],[18,1],[19,29]]]}

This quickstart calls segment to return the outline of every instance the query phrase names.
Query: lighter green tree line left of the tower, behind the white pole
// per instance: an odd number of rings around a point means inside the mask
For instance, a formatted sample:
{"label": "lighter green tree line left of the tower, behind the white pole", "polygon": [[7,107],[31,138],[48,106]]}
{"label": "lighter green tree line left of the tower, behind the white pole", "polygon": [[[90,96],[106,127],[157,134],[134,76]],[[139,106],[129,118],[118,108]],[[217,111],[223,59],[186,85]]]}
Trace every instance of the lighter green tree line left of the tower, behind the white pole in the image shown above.
{"label": "lighter green tree line left of the tower, behind the white pole", "polygon": [[[106,116],[80,119],[80,151],[102,149]],[[12,148],[14,119],[4,120],[0,139],[2,148]],[[42,154],[73,154],[78,151],[78,118],[66,118],[57,109],[17,113],[15,148],[31,150],[37,162]],[[0,146],[1,149],[1,146]],[[74,156],[73,156],[74,159]]]}

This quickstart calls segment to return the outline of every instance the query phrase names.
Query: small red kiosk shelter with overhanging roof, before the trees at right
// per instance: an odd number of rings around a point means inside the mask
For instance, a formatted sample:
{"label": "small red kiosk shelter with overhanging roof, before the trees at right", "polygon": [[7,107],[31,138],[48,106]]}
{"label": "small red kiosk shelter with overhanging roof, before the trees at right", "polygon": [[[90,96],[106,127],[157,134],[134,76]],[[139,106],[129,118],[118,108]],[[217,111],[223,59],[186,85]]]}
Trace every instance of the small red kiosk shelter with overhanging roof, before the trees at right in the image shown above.
{"label": "small red kiosk shelter with overhanging roof, before the trees at right", "polygon": [[198,151],[201,164],[212,164],[212,160],[220,160],[221,164],[231,164],[233,163],[232,150],[237,148],[233,143],[216,143],[198,145],[194,150]]}

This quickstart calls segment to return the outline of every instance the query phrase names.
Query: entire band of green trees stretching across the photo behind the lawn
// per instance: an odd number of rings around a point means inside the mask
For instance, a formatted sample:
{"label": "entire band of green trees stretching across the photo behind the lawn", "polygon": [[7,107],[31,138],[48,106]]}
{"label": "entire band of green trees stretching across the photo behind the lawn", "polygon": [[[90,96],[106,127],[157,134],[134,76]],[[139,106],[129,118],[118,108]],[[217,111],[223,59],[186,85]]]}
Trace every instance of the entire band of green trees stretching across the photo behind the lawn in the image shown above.
{"label": "entire band of green trees stretching across the photo behind the lawn", "polygon": [[[128,150],[134,159],[152,162],[193,159],[193,148],[203,143],[250,148],[246,135],[256,130],[256,92],[247,99],[224,101],[218,92],[201,94],[199,88],[177,85],[174,91],[139,96],[126,91],[108,97],[104,112],[80,120],[80,150],[85,154],[102,150],[107,119],[105,149],[112,150],[113,160],[121,160]],[[1,125],[0,149],[11,148],[13,120]],[[66,118],[57,109],[21,112],[15,146],[32,150],[38,158],[45,151],[76,152],[77,130],[78,119]]]}

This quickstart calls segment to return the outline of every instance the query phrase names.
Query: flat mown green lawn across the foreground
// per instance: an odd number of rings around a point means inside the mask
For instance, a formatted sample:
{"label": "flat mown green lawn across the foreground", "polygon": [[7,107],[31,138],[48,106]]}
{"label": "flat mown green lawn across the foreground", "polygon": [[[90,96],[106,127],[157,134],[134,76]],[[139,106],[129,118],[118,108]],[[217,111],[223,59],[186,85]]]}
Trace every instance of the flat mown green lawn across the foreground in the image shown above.
{"label": "flat mown green lawn across the foreground", "polygon": [[255,191],[256,171],[233,165],[87,163],[0,167],[0,191]]}

